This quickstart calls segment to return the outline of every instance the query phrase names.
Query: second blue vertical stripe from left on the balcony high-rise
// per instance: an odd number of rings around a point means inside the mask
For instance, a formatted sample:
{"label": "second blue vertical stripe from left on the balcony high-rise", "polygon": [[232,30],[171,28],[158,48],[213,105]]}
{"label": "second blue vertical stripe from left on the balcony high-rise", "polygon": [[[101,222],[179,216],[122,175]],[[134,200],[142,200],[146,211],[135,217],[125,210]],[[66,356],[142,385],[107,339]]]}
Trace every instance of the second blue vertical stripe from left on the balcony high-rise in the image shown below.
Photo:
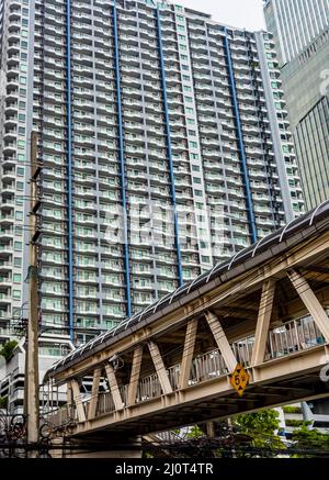
{"label": "second blue vertical stripe from left on the balcony high-rise", "polygon": [[132,294],[131,294],[131,267],[129,267],[129,243],[128,243],[128,215],[127,215],[126,180],[125,180],[124,131],[123,131],[122,101],[121,101],[120,49],[118,49],[116,2],[114,2],[113,5],[113,40],[114,40],[114,58],[115,58],[114,67],[115,67],[115,83],[116,83],[118,157],[120,157],[120,180],[121,180],[123,235],[124,235],[123,246],[124,246],[126,302],[127,302],[127,316],[131,316]]}

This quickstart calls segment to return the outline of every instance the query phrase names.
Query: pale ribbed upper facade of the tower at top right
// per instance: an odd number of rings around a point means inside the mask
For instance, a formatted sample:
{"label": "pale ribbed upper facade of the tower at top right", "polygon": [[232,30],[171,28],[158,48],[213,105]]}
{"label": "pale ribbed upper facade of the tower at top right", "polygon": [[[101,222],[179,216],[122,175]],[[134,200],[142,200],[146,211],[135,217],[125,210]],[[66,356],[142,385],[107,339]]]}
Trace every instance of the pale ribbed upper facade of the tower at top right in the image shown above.
{"label": "pale ribbed upper facade of the tower at top right", "polygon": [[329,23],[328,0],[263,0],[280,67],[296,58]]}

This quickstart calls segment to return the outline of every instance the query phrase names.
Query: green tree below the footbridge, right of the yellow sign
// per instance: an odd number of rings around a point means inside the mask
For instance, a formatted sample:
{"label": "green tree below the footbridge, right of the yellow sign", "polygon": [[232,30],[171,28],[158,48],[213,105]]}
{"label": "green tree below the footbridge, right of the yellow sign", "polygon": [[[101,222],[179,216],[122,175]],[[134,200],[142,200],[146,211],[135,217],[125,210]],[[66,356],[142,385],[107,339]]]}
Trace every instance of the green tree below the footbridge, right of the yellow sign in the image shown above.
{"label": "green tree below the footbridge, right of the yellow sign", "polygon": [[[234,426],[240,434],[248,435],[251,447],[264,449],[265,456],[275,456],[275,450],[285,448],[275,434],[280,426],[279,413],[275,410],[239,415],[235,418]],[[237,456],[246,456],[246,454],[242,449],[238,449]]]}

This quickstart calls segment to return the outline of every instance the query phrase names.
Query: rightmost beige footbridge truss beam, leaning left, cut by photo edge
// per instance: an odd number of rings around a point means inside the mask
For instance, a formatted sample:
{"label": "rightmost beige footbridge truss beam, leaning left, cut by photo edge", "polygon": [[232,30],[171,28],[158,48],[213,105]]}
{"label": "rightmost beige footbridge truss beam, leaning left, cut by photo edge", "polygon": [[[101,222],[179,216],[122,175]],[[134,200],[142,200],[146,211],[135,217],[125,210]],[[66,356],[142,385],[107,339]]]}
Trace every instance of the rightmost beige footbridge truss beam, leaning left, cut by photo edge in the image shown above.
{"label": "rightmost beige footbridge truss beam, leaning left, cut by photo edge", "polygon": [[319,331],[324,335],[326,342],[329,343],[329,317],[316,294],[311,290],[308,281],[297,270],[292,268],[287,270],[287,276],[295,287],[295,290],[297,291],[304,305],[313,316]]}

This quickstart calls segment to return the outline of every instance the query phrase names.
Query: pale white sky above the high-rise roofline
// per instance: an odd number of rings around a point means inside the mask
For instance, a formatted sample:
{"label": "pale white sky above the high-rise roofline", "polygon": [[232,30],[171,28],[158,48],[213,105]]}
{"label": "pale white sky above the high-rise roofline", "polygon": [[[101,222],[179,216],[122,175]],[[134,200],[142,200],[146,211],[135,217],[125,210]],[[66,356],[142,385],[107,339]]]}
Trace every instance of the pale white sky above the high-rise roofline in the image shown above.
{"label": "pale white sky above the high-rise roofline", "polygon": [[265,29],[262,0],[170,0],[204,13],[214,20],[247,30]]}

